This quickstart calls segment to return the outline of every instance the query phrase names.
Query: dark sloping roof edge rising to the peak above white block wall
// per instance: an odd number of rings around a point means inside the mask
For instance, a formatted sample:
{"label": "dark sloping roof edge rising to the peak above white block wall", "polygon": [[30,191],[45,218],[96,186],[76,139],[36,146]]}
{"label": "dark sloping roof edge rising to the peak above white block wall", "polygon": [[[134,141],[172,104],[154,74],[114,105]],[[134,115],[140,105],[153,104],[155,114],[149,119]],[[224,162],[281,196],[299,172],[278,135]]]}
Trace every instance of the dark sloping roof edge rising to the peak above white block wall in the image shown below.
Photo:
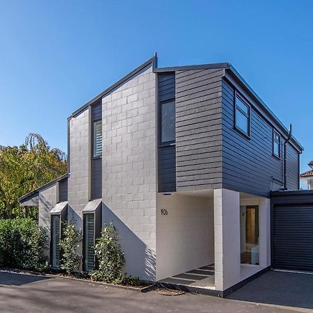
{"label": "dark sloping roof edge rising to the peak above white block wall", "polygon": [[124,83],[125,81],[127,81],[127,79],[130,79],[131,77],[133,77],[135,74],[137,74],[137,72],[140,72],[141,70],[143,70],[143,68],[147,67],[148,65],[152,64],[152,68],[154,69],[157,65],[157,54],[154,54],[154,56],[152,58],[150,58],[149,60],[145,61],[145,63],[139,65],[138,67],[136,67],[134,70],[132,70],[131,72],[129,72],[127,75],[125,75],[125,77],[122,77],[120,80],[118,80],[116,83],[113,83],[113,85],[111,85],[109,88],[106,88],[106,90],[102,91],[102,93],[99,93],[99,95],[93,97],[93,99],[89,100],[86,104],[83,104],[83,106],[81,106],[79,109],[77,109],[76,111],[74,111],[68,118],[67,120],[71,120],[72,118],[74,118],[75,116],[77,116],[79,113],[81,113],[81,111],[85,110],[86,108],[88,108],[88,106],[90,106],[90,104],[93,104],[93,102],[96,102],[97,100],[101,99],[104,95],[106,95],[107,93],[110,93],[113,89],[117,88],[118,86],[120,86],[122,83]]}

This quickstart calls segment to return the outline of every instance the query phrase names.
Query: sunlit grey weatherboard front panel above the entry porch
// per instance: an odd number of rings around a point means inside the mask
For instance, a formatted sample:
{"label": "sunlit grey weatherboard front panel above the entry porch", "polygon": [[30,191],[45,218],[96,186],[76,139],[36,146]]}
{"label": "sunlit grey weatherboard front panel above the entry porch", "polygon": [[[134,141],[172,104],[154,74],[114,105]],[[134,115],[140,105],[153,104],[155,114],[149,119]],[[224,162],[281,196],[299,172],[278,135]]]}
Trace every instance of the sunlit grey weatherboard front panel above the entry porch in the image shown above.
{"label": "sunlit grey weatherboard front panel above the entry porch", "polygon": [[177,191],[222,186],[222,69],[175,75]]}

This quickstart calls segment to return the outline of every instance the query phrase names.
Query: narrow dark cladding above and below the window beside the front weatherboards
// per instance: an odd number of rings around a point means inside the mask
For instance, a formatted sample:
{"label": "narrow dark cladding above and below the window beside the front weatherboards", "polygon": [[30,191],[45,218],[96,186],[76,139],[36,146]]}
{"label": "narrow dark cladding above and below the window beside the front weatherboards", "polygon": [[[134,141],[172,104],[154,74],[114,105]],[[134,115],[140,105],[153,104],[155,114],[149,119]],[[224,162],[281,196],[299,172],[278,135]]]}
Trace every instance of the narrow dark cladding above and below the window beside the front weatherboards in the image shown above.
{"label": "narrow dark cladding above and below the window beside the front weatherboards", "polygon": [[[175,99],[175,72],[157,74],[158,105]],[[160,118],[160,116],[159,116]],[[161,123],[158,123],[161,125]],[[158,148],[158,191],[176,191],[176,152],[175,145],[166,145]]]}

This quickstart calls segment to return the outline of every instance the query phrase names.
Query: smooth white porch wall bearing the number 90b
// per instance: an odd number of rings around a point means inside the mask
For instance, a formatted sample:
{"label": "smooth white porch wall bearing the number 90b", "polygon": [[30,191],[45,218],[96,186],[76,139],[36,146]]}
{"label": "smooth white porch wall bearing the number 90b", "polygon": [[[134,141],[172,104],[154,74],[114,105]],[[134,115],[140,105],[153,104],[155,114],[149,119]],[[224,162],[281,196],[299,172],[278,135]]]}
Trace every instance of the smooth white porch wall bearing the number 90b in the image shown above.
{"label": "smooth white porch wall bearing the number 90b", "polygon": [[[162,215],[166,209],[168,215]],[[157,195],[157,280],[214,263],[213,199]]]}

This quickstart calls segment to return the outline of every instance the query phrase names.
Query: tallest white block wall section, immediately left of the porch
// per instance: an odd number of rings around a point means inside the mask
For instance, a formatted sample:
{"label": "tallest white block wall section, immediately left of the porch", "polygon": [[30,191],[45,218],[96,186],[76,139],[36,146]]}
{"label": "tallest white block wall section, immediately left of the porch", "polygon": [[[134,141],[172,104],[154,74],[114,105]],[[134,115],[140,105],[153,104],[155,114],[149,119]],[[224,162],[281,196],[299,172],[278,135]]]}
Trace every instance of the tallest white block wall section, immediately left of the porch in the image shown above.
{"label": "tallest white block wall section, immediately left of the porch", "polygon": [[103,222],[113,221],[124,271],[155,280],[156,75],[152,66],[102,98]]}

